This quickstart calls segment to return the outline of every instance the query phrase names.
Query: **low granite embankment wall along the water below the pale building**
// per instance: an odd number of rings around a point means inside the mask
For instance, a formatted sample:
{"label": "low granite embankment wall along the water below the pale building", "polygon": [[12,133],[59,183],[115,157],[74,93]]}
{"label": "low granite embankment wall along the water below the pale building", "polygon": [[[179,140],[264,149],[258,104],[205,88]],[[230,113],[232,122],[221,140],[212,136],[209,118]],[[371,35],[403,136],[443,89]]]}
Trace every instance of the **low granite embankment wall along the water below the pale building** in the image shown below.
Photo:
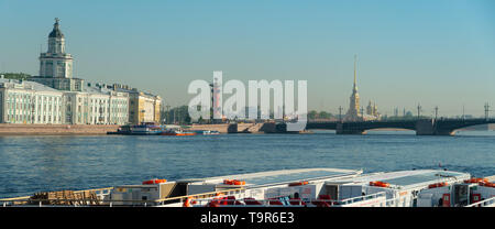
{"label": "low granite embankment wall along the water below the pale building", "polygon": [[0,135],[94,135],[117,131],[117,124],[0,124]]}

